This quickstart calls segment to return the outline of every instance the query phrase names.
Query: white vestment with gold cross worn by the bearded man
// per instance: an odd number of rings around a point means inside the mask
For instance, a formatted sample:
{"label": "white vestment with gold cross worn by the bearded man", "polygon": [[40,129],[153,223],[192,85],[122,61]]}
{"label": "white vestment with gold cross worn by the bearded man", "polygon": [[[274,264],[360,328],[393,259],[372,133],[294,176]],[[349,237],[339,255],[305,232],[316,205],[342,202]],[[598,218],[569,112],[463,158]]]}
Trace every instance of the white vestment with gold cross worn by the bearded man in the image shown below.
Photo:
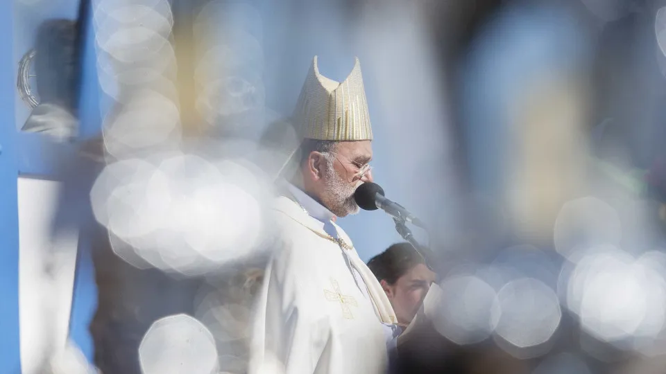
{"label": "white vestment with gold cross worn by the bearded man", "polygon": [[382,322],[395,322],[386,294],[344,231],[322,219],[328,211],[295,199],[275,204],[282,247],[255,303],[249,372],[386,373]]}

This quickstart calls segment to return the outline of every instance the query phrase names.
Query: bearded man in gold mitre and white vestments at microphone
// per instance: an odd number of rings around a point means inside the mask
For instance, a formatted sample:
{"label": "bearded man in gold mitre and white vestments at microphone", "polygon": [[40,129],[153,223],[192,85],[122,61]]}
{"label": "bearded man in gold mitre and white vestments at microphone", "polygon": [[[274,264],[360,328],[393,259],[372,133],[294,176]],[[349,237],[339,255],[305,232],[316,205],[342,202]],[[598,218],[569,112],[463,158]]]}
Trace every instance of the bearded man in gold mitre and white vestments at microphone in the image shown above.
{"label": "bearded man in gold mitre and white vestments at microphone", "polygon": [[384,373],[386,342],[399,330],[395,314],[335,224],[359,211],[354,191],[372,181],[373,134],[358,59],[336,82],[319,73],[314,57],[292,119],[301,139],[291,157],[298,172],[283,173],[274,206],[282,248],[255,305],[250,373]]}

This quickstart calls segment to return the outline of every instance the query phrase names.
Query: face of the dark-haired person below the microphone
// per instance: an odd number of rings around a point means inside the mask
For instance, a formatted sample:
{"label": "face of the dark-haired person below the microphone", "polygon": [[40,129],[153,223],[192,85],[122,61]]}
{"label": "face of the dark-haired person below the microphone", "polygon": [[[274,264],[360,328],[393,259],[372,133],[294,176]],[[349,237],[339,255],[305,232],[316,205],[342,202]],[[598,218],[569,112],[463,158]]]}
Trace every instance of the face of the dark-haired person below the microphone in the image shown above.
{"label": "face of the dark-haired person below the microphone", "polygon": [[382,281],[386,296],[393,306],[395,317],[398,317],[398,323],[411,322],[434,281],[434,272],[423,264],[409,269],[393,285]]}

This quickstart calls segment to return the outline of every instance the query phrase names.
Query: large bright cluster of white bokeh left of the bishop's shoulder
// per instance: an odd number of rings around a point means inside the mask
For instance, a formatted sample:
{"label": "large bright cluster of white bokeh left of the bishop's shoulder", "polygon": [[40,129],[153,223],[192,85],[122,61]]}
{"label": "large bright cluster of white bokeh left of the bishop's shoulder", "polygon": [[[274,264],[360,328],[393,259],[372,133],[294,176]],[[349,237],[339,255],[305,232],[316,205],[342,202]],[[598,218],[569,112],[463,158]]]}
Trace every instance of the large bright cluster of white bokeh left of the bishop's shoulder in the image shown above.
{"label": "large bright cluster of white bokeh left of the bishop's shoulder", "polygon": [[244,258],[265,239],[253,172],[231,161],[213,164],[193,154],[160,154],[107,166],[91,190],[93,212],[112,235],[117,253],[145,267],[202,274]]}

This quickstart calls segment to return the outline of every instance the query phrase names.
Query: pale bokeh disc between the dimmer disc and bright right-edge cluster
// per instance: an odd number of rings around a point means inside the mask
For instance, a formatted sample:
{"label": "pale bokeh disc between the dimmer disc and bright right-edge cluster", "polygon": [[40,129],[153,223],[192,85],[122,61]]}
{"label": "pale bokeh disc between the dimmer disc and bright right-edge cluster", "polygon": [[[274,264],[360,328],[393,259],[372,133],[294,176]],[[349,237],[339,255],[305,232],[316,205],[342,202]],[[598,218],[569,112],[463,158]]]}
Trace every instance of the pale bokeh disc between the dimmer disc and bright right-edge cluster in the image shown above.
{"label": "pale bokeh disc between the dimmer disc and bright right-edge cluster", "polygon": [[[553,336],[562,317],[555,292],[534,278],[521,278],[502,287],[497,299],[495,340],[499,346],[519,358],[545,353],[543,344]],[[536,346],[540,347],[531,349]]]}

